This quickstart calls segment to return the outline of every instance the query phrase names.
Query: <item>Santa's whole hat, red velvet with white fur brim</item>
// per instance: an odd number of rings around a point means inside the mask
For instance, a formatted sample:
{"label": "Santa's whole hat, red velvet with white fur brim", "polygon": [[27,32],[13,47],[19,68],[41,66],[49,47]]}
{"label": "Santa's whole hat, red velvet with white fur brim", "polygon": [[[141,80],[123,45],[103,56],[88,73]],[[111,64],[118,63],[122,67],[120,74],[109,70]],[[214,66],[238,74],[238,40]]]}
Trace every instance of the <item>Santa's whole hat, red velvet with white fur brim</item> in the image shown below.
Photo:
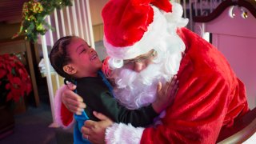
{"label": "Santa's whole hat, red velvet with white fur brim", "polygon": [[130,59],[151,50],[166,30],[169,0],[110,0],[102,10],[104,45],[111,58]]}

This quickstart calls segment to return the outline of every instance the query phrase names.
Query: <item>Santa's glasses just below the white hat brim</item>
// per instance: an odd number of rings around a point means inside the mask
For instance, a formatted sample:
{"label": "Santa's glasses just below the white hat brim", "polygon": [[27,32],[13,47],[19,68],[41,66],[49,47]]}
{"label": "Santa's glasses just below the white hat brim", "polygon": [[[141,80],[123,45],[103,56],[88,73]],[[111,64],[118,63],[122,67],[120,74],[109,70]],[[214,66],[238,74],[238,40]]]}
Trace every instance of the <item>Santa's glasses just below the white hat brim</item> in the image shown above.
{"label": "Santa's glasses just below the white hat brim", "polygon": [[148,59],[154,58],[156,55],[157,55],[157,51],[150,50],[148,54],[145,54],[145,55],[143,54],[133,59],[123,60],[123,64],[126,65],[126,64],[132,64],[135,62],[139,62],[139,63],[146,62]]}

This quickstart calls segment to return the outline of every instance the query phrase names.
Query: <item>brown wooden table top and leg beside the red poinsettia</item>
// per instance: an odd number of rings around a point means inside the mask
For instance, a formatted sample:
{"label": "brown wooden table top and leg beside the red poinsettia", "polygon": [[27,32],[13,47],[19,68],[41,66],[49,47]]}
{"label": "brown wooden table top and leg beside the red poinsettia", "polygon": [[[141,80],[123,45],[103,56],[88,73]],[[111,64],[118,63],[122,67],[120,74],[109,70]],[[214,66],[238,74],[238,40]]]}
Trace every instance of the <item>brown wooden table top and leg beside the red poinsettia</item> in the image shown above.
{"label": "brown wooden table top and leg beside the red poinsettia", "polygon": [[35,106],[39,106],[38,86],[34,74],[34,62],[32,60],[30,42],[25,41],[23,37],[0,40],[0,54],[18,53],[25,53],[26,55],[26,62],[29,67],[29,74],[33,86]]}

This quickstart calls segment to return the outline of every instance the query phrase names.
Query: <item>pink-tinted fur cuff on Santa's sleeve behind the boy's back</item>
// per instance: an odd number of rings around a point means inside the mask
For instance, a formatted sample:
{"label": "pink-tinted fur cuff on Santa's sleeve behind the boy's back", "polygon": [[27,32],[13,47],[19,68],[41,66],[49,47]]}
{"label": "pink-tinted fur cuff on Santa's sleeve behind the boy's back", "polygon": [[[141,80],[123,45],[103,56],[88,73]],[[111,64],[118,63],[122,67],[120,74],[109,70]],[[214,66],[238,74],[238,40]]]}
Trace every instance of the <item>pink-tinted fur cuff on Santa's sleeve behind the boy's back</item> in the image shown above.
{"label": "pink-tinted fur cuff on Santa's sleeve behind the boy's back", "polygon": [[74,122],[75,122],[74,117],[72,122],[70,122],[68,126],[64,126],[62,122],[62,115],[61,115],[62,91],[65,89],[67,89],[67,86],[63,85],[56,91],[55,98],[54,98],[54,112],[55,112],[54,117],[55,117],[55,122],[57,122],[59,126],[62,126],[64,129],[70,129],[74,125]]}

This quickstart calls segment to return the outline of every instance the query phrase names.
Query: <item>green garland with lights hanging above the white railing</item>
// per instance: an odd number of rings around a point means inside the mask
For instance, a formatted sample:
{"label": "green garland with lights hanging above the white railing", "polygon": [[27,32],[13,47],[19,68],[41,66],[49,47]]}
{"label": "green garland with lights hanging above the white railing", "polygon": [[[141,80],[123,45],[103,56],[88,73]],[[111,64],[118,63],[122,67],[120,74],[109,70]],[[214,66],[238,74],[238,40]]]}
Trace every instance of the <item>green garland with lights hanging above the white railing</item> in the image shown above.
{"label": "green garland with lights hanging above the white railing", "polygon": [[22,22],[20,30],[12,38],[25,35],[25,39],[37,42],[38,34],[44,35],[49,29],[53,29],[46,21],[55,8],[62,9],[64,6],[72,6],[71,0],[30,0],[24,2],[22,8]]}

